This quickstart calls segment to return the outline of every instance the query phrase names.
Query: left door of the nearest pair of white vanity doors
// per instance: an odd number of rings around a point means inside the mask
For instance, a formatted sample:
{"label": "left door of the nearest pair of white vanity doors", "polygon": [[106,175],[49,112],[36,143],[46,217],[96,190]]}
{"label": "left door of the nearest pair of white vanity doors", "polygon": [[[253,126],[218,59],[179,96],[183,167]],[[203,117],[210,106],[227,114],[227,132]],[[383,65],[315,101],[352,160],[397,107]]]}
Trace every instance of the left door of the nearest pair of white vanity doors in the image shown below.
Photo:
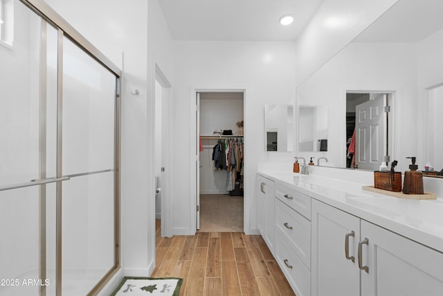
{"label": "left door of the nearest pair of white vanity doors", "polygon": [[311,295],[360,295],[360,219],[314,199],[311,207]]}

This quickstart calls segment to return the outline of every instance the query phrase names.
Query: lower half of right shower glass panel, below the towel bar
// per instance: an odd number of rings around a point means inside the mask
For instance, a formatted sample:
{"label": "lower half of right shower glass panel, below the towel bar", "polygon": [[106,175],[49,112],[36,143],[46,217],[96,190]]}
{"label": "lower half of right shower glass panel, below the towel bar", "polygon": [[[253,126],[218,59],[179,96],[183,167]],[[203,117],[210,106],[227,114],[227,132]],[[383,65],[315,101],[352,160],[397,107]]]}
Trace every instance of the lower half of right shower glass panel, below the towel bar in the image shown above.
{"label": "lower half of right shower glass panel, below the towel bar", "polygon": [[114,173],[63,183],[62,295],[87,295],[114,266]]}

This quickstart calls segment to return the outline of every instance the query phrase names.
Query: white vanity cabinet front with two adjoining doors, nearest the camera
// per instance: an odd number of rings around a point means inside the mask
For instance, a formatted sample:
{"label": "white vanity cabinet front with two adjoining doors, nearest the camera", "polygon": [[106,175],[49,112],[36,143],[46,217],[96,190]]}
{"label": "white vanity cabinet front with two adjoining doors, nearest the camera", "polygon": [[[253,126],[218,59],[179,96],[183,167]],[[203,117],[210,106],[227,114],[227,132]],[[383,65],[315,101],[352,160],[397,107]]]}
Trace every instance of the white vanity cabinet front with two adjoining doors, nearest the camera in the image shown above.
{"label": "white vanity cabinet front with two adjoining doors, nearest the camera", "polygon": [[443,253],[312,201],[311,295],[442,295]]}

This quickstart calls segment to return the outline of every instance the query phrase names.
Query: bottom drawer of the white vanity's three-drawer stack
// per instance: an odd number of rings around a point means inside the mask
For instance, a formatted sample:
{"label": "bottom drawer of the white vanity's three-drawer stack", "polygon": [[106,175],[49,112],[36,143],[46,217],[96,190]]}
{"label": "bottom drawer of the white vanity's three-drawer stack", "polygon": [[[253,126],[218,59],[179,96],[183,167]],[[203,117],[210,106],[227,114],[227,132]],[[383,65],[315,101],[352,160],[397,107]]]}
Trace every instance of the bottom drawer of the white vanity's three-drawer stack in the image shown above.
{"label": "bottom drawer of the white vanity's three-drawer stack", "polygon": [[280,232],[275,234],[275,259],[296,295],[311,295],[311,272],[282,238]]}

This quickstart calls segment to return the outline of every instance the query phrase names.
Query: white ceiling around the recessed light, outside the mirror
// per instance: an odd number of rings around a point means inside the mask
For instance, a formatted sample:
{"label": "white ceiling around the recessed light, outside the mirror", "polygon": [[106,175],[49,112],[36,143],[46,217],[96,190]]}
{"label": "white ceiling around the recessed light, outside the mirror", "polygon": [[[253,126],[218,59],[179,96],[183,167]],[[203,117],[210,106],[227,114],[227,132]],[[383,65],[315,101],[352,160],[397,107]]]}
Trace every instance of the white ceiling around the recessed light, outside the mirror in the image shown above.
{"label": "white ceiling around the recessed light, outside the mirror", "polygon": [[[323,0],[161,0],[173,40],[294,41]],[[294,21],[282,26],[279,18]]]}

